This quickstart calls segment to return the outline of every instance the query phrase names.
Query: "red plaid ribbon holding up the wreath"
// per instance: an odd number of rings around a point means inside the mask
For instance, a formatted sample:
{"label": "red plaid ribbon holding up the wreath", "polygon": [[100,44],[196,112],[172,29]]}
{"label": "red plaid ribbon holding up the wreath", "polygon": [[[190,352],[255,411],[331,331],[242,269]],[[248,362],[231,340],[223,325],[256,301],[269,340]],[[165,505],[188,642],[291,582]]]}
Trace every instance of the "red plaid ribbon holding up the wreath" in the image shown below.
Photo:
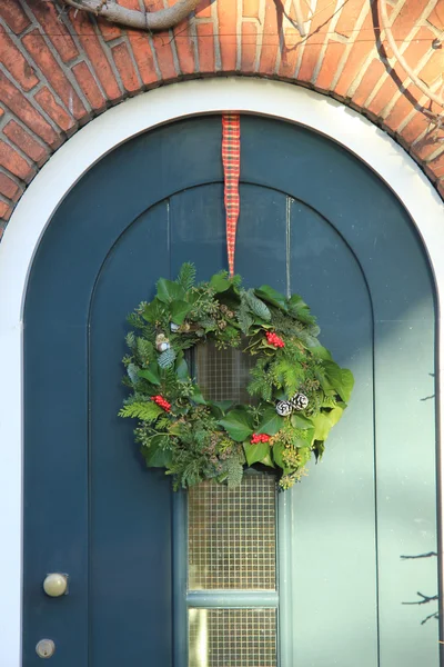
{"label": "red plaid ribbon holding up the wreath", "polygon": [[226,253],[230,276],[234,273],[235,235],[239,218],[239,172],[241,168],[241,118],[222,116],[222,163],[226,211]]}

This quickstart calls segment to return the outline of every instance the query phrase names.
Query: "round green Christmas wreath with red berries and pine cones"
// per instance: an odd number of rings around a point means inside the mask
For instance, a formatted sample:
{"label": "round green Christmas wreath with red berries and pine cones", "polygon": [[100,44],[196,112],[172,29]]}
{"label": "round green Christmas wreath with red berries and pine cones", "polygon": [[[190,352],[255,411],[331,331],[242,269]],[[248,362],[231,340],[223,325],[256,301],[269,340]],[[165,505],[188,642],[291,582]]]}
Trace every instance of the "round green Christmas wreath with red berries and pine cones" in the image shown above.
{"label": "round green Christmas wreath with red berries and pine cones", "polygon": [[[184,263],[176,280],[161,278],[154,299],[129,316],[123,381],[132,391],[119,415],[138,419],[135,440],[147,465],[165,468],[174,488],[204,479],[234,486],[254,465],[274,470],[287,489],[312,454],[321,458],[353,376],[320,345],[300,296],[246,289],[226,271],[199,285],[194,279],[194,266]],[[256,356],[251,405],[202,395],[189,366],[193,347],[210,340]]]}

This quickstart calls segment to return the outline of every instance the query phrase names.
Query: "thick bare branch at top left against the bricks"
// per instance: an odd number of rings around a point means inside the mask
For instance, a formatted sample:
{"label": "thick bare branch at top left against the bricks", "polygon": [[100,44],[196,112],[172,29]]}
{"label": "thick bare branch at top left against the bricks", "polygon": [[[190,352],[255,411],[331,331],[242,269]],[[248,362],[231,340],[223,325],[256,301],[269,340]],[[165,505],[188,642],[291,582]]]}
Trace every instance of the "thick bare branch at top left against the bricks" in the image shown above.
{"label": "thick bare branch at top left against the bricks", "polygon": [[183,21],[198,7],[200,0],[178,0],[168,9],[153,12],[135,11],[112,0],[62,0],[64,4],[81,9],[107,21],[135,30],[169,30]]}

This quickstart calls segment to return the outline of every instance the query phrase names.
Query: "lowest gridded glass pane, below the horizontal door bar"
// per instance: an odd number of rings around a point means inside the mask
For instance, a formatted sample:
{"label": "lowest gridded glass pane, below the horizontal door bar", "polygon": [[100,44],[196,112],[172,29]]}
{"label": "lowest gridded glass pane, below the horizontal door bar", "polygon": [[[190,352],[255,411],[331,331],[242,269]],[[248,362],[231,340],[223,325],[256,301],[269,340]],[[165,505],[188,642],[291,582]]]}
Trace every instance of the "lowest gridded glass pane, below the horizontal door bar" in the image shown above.
{"label": "lowest gridded glass pane, below the horizontal door bar", "polygon": [[276,667],[275,609],[190,609],[189,667]]}

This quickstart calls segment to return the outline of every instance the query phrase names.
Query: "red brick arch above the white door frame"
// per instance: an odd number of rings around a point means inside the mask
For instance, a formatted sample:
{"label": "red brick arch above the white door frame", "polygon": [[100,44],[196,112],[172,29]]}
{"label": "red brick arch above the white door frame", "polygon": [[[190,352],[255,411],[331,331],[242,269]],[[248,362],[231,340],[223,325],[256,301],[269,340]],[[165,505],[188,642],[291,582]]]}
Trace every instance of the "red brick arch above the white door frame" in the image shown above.
{"label": "red brick arch above the white door frame", "polygon": [[[163,6],[147,0],[150,10]],[[164,83],[221,74],[275,78],[343,101],[392,135],[444,196],[444,131],[431,127],[422,112],[430,101],[382,46],[375,0],[302,7],[306,39],[291,22],[291,0],[203,0],[189,21],[158,34],[60,12],[48,0],[1,0],[0,236],[38,170],[94,116]],[[407,62],[438,90],[444,0],[392,0],[390,11]]]}

